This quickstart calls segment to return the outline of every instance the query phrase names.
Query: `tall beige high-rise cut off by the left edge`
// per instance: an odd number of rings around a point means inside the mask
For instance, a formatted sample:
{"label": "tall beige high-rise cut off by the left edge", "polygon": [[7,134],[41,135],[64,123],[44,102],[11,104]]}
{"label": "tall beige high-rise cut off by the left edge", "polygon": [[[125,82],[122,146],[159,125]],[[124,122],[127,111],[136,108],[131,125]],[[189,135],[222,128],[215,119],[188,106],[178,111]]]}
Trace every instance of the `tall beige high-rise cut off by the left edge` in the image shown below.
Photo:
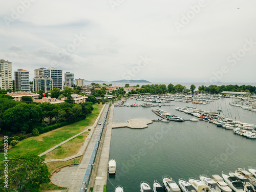
{"label": "tall beige high-rise cut off by the left edge", "polygon": [[0,86],[12,90],[12,63],[4,59],[0,59]]}

